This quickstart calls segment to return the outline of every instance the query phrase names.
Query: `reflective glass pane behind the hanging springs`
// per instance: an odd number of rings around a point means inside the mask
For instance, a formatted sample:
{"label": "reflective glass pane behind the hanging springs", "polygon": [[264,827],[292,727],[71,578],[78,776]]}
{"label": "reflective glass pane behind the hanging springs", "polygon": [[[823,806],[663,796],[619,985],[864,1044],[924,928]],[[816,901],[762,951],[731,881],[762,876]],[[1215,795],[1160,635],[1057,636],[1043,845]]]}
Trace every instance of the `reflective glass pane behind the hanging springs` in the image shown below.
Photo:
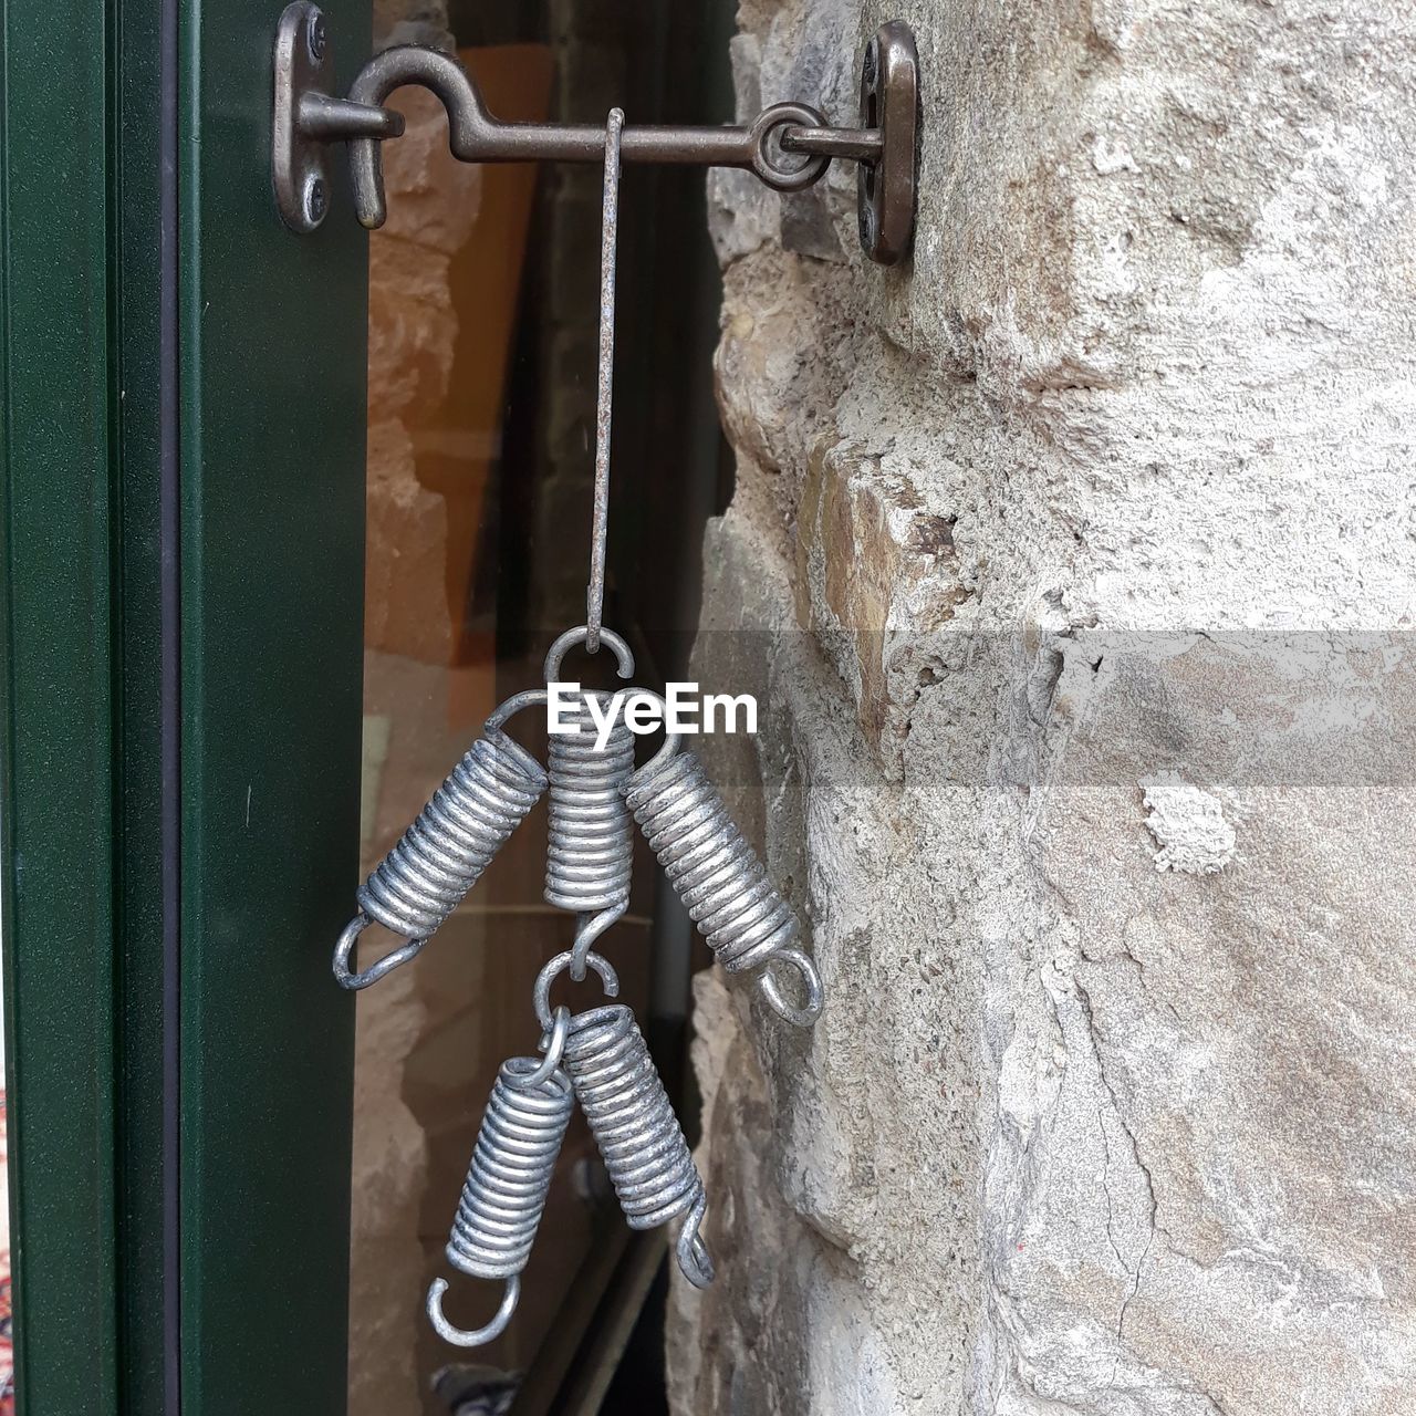
{"label": "reflective glass pane behind the hanging springs", "polygon": [[[484,7],[464,8],[449,21],[457,55],[507,119],[602,122],[612,99],[643,89],[633,74],[663,72],[666,47],[685,64],[692,54],[675,38],[685,21],[670,23],[656,6],[593,16],[511,7],[496,23]],[[425,18],[384,17],[381,34],[439,38]],[[683,109],[663,116],[702,118],[694,95],[675,93]],[[585,619],[599,309],[596,167],[463,166],[447,153],[432,95],[402,91],[391,106],[408,130],[384,149],[389,219],[370,248],[365,874],[491,709],[542,684],[551,640]],[[605,619],[634,646],[644,687],[683,677],[698,541],[718,510],[716,272],[702,181],[702,173],[644,169],[624,180]],[[675,231],[684,245],[673,263],[660,262]],[[609,684],[607,660],[576,656],[566,668]],[[539,712],[520,715],[511,731],[545,759]],[[630,913],[603,944],[620,1000],[658,1042],[673,1078],[690,932],[663,919],[656,926],[654,862],[643,843],[637,850]],[[501,1297],[500,1284],[456,1273],[443,1247],[497,1068],[535,1052],[532,981],[573,935],[573,916],[542,901],[544,869],[542,799],[418,957],[358,995],[353,1416],[453,1412],[517,1389],[518,1410],[554,1409],[559,1378],[548,1374],[564,1369],[573,1381],[585,1334],[626,1301],[615,1272],[629,1231],[576,1114],[506,1335],[452,1348],[423,1314],[438,1276],[449,1279],[446,1311],[459,1325],[481,1325]],[[358,964],[391,942],[371,929]],[[590,984],[564,997],[578,1007],[599,1001]],[[636,1313],[629,1317],[633,1328]],[[528,1371],[530,1379],[520,1375]],[[654,1398],[646,1400],[636,1409],[654,1410]]]}

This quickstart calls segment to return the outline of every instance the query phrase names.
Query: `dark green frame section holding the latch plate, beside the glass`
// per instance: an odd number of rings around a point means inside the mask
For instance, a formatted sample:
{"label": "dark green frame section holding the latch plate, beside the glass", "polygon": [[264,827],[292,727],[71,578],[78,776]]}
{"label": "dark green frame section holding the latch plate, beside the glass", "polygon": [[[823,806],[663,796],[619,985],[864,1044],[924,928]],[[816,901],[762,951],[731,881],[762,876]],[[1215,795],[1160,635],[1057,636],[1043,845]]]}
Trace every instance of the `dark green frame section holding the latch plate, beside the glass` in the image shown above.
{"label": "dark green frame section holding the latch plate, beside the glass", "polygon": [[[340,79],[368,48],[341,0]],[[183,7],[183,1412],[343,1412],[367,238],[270,194],[280,7]],[[337,194],[348,202],[348,195]]]}

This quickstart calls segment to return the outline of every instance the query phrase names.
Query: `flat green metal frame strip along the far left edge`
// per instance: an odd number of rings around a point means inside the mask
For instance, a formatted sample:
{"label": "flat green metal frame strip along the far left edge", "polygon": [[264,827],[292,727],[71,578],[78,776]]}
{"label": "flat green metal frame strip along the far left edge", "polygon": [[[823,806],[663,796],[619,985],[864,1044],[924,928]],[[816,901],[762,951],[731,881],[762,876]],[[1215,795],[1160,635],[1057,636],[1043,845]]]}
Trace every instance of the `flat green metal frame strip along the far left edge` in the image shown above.
{"label": "flat green metal frame strip along the far left edge", "polygon": [[4,8],[0,899],[27,1413],[116,1410],[119,1391],[110,55],[81,20]]}

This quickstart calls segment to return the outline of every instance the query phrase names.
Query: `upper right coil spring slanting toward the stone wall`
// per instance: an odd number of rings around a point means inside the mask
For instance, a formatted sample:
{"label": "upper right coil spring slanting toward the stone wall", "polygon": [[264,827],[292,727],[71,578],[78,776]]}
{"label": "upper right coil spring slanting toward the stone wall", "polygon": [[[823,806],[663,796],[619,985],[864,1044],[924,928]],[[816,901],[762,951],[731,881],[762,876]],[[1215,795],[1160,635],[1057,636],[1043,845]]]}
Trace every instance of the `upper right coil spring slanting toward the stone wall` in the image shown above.
{"label": "upper right coil spring slanting toward the stone wall", "polygon": [[629,779],[624,796],[714,957],[729,973],[776,960],[793,964],[806,984],[804,1007],[789,1004],[769,974],[762,988],[782,1017],[801,1027],[814,1022],[821,980],[793,947],[801,925],[733,826],[698,758],[680,752],[646,763]]}

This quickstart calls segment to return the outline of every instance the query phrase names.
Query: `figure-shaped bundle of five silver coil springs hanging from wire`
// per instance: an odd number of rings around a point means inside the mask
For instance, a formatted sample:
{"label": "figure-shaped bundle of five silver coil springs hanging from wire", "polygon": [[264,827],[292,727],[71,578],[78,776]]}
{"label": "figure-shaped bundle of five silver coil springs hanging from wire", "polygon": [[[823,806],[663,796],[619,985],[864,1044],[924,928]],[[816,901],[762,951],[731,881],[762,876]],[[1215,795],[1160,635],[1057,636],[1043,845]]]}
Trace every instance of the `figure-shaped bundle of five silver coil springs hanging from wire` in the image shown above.
{"label": "figure-shaped bundle of five silver coil springs hanging from wire", "polygon": [[[569,649],[598,647],[599,640],[615,651],[620,678],[630,678],[634,657],[624,640],[598,626],[592,639],[579,626],[551,646],[547,684],[561,681]],[[634,823],[724,969],[752,974],[767,1004],[797,1027],[810,1027],[821,1011],[816,966],[797,947],[800,922],[733,826],[702,765],[668,735],[636,769],[634,735],[622,712],[599,746],[592,695],[605,718],[610,695],[583,691],[569,714],[569,726],[582,731],[552,733],[545,767],[507,735],[506,724],[523,708],[544,705],[547,690],[508,698],[360,888],[358,912],[334,950],[334,976],[346,988],[368,987],[412,959],[549,787],[544,898],[575,913],[575,942],[537,977],[539,1056],[501,1065],[447,1239],[455,1269],[504,1281],[501,1306],[486,1327],[469,1332],[443,1317],[446,1280],[436,1279],[428,1291],[432,1325],[457,1347],[490,1342],[511,1321],[576,1103],[629,1226],[654,1229],[677,1221],[680,1269],[697,1287],[712,1280],[712,1259],[700,1236],[708,1208],[702,1180],[633,1012],[613,1003],[578,1014],[551,1007],[551,986],[566,971],[581,980],[593,970],[606,997],[619,993],[615,969],[592,946],[629,909]],[[402,943],[355,973],[353,950],[375,922]],[[799,974],[800,1003],[782,988],[776,973],[782,966]]]}

